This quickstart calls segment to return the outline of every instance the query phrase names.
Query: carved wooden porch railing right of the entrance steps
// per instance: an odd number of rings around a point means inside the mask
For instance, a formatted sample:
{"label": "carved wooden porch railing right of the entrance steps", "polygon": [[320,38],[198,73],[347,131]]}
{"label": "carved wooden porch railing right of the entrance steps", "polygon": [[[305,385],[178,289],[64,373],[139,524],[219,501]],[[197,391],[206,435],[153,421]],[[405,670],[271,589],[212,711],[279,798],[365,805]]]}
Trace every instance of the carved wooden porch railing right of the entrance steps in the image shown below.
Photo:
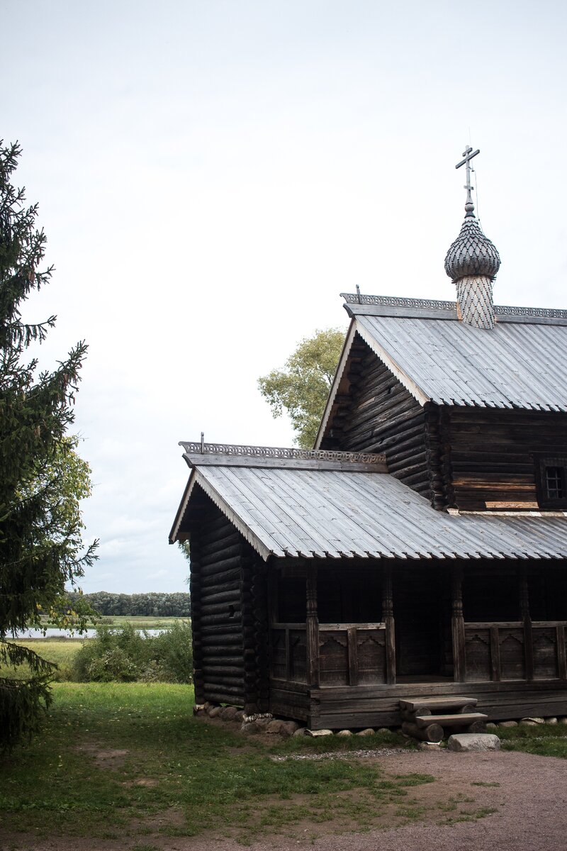
{"label": "carved wooden porch railing right of the entrance steps", "polygon": [[563,620],[464,625],[467,682],[567,680]]}

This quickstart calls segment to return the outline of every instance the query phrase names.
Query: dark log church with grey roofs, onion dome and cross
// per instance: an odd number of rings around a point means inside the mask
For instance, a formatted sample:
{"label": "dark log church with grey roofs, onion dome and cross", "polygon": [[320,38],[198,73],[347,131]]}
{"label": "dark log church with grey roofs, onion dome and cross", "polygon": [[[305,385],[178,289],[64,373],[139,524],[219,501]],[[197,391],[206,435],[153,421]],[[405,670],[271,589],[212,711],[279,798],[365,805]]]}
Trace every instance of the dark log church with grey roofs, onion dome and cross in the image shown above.
{"label": "dark log church with grey roofs, onion dome and cross", "polygon": [[493,304],[477,152],[456,301],[344,294],[313,450],[181,444],[197,703],[313,729],[462,694],[567,715],[567,311]]}

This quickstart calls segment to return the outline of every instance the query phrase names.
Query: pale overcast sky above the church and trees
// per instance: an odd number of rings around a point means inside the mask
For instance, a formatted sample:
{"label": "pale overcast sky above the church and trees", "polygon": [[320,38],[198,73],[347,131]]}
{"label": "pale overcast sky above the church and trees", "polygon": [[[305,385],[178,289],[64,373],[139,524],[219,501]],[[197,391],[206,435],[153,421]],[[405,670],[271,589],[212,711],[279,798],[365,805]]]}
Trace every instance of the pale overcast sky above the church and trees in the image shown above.
{"label": "pale overcast sky above the church and trees", "polygon": [[[256,380],[338,294],[450,299],[481,149],[496,302],[567,306],[558,0],[2,0],[0,135],[40,203],[53,363],[77,401],[100,558],[85,591],[184,590],[179,440],[289,445]],[[470,136],[469,136],[470,134]]]}

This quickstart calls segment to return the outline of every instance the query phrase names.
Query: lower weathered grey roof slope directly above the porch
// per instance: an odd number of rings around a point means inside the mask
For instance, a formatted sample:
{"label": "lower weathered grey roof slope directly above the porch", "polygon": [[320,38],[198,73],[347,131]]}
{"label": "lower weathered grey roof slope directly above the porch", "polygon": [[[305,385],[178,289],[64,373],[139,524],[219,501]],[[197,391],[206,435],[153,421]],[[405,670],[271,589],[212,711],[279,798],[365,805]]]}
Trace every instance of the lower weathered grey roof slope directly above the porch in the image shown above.
{"label": "lower weathered grey roof slope directly above the porch", "polygon": [[567,558],[567,514],[453,516],[388,473],[194,466],[179,526],[199,485],[267,559]]}

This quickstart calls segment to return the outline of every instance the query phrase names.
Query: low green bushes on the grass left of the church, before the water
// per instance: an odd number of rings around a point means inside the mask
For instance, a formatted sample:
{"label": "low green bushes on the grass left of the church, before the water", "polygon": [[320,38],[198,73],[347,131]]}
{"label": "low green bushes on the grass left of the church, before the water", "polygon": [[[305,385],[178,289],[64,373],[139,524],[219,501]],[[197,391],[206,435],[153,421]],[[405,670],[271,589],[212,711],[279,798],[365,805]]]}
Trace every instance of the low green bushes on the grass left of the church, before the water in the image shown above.
{"label": "low green bushes on the grass left of the church, before the water", "polygon": [[179,621],[158,636],[131,624],[99,625],[72,663],[72,676],[80,683],[190,683],[192,673],[190,625]]}

